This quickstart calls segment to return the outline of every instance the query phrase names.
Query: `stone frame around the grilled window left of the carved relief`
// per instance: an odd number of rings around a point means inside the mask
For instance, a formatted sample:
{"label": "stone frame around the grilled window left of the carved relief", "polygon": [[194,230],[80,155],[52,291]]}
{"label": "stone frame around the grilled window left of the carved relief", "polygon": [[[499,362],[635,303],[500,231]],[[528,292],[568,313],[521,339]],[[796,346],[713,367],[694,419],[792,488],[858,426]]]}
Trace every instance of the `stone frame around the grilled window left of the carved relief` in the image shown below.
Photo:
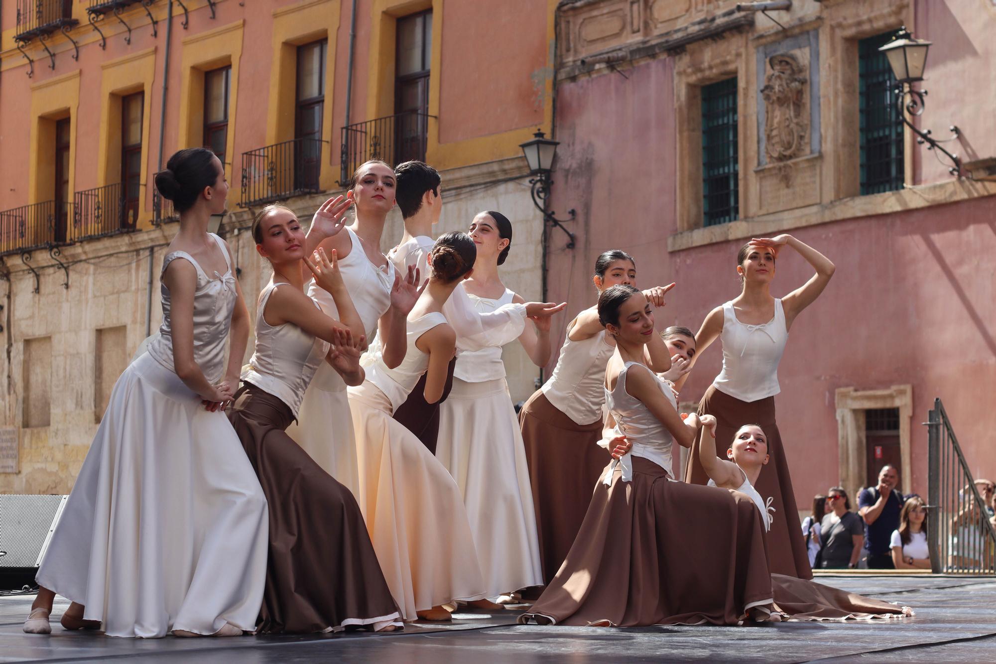
{"label": "stone frame around the grilled window left of the carved relief", "polygon": [[[749,103],[747,35],[733,33],[710,42],[697,42],[677,55],[674,63],[674,111],[677,133],[677,229],[702,227],[702,86],[723,79],[737,79],[737,161],[739,207],[749,209],[746,161],[748,141],[754,141],[754,109]],[[733,221],[732,223],[736,223]],[[717,224],[718,226],[726,224]],[[710,226],[716,227],[716,226]]]}

